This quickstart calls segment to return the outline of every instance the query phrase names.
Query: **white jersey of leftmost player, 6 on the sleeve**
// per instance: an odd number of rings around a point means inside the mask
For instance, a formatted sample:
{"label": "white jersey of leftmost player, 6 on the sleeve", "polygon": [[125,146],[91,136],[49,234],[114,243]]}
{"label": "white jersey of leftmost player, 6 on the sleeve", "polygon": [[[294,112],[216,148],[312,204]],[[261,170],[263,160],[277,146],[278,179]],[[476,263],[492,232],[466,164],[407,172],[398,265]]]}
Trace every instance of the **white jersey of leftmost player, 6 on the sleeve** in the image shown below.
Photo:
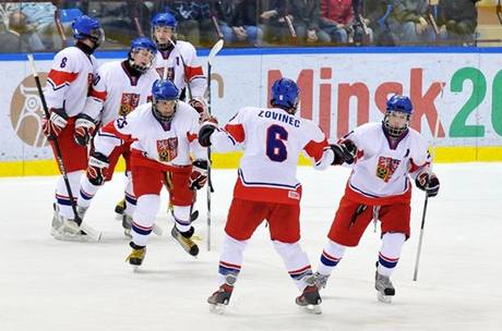
{"label": "white jersey of leftmost player, 6 on the sleeve", "polygon": [[96,70],[94,56],[87,56],[75,46],[58,52],[47,77],[47,107],[63,108],[69,117],[83,112]]}

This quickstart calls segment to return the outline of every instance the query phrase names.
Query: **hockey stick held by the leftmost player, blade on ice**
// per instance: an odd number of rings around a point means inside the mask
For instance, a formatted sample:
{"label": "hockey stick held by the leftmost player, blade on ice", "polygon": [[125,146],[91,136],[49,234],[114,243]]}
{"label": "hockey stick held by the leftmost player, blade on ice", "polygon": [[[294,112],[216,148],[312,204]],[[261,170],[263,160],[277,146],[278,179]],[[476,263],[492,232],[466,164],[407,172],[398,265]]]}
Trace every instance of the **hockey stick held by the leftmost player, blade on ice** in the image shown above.
{"label": "hockey stick held by the leftmost player, blade on ice", "polygon": [[[37,86],[37,90],[38,90],[38,95],[40,97],[40,101],[41,101],[41,106],[44,108],[44,114],[46,117],[46,119],[49,119],[50,118],[50,114],[49,114],[49,109],[47,107],[47,101],[46,101],[46,98],[44,96],[44,90],[41,89],[41,84],[40,84],[40,78],[38,77],[38,72],[35,68],[35,60],[33,58],[33,54],[29,53],[27,54],[28,57],[28,61],[29,61],[29,66],[32,68],[32,72],[33,72],[33,77],[35,78],[35,84]],[[64,167],[64,162],[62,160],[62,155],[61,155],[61,149],[59,147],[59,142],[57,138],[52,139],[52,143],[53,143],[53,146],[55,146],[55,150],[56,150],[56,161],[58,162],[58,166],[59,166],[59,170],[61,171],[61,174],[63,176],[63,180],[64,180],[64,186],[67,187],[67,192],[68,192],[68,196],[70,198],[70,204],[71,204],[71,208],[73,210],[73,216],[74,216],[74,221],[76,224],[79,224],[80,229],[82,231],[84,231],[92,240],[96,241],[96,242],[99,242],[100,237],[101,237],[101,233],[87,226],[85,223],[82,222],[82,219],[79,217],[79,213],[76,212],[76,205],[75,205],[75,199],[73,198],[73,193],[71,191],[71,186],[70,186],[70,181],[68,180],[68,172],[67,172],[67,168]]]}

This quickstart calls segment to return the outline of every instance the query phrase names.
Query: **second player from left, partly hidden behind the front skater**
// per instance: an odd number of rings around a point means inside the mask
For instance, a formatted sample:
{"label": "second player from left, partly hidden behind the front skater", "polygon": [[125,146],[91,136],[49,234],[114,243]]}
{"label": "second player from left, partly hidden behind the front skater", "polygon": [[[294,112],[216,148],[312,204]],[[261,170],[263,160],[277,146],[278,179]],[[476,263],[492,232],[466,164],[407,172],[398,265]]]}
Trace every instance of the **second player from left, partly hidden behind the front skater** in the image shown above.
{"label": "second player from left, partly hidden behind the front skater", "polygon": [[[85,112],[95,122],[107,124],[119,117],[129,114],[138,106],[150,102],[152,100],[152,85],[159,78],[153,68],[156,52],[155,42],[148,38],[139,37],[132,40],[127,60],[107,62],[99,66],[91,95],[87,97]],[[85,142],[88,142],[89,138],[89,135],[85,135]],[[92,171],[93,168],[89,167],[88,170],[91,171],[82,177],[77,198],[79,209],[83,212],[91,205],[92,198],[99,186],[104,184],[104,181],[111,180],[119,157],[122,156],[125,160],[125,174],[128,176],[125,186],[127,208],[122,221],[127,235],[130,235],[132,214],[136,205],[130,175],[130,143],[124,143],[113,149],[108,157],[109,167],[105,177],[95,176],[96,174]]]}

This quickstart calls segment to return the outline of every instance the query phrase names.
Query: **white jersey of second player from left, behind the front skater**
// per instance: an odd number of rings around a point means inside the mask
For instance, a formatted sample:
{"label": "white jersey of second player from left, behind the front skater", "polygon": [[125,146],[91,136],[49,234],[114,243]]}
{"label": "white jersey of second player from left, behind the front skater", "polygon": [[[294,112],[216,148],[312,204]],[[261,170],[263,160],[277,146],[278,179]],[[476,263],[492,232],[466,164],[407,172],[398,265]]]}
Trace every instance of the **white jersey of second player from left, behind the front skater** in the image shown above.
{"label": "white jersey of second player from left, behind the front skater", "polygon": [[85,103],[85,113],[103,124],[129,114],[138,106],[152,101],[152,85],[159,76],[152,69],[131,76],[124,61],[99,66]]}

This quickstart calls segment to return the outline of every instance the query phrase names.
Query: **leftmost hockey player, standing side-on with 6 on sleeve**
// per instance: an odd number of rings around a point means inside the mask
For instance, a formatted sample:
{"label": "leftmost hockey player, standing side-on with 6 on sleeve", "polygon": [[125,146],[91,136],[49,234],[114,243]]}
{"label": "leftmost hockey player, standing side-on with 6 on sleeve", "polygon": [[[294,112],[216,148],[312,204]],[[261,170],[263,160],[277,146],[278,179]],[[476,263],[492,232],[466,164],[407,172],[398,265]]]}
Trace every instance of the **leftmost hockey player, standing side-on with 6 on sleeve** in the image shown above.
{"label": "leftmost hockey player, standing side-on with 6 on sleeve", "polygon": [[[45,97],[49,119],[44,119],[43,127],[52,148],[52,140],[58,139],[70,187],[76,196],[82,170],[87,167],[84,136],[92,135],[96,127],[93,119],[84,114],[84,106],[97,69],[93,52],[103,42],[104,32],[97,20],[86,15],[77,17],[72,29],[75,45],[56,54],[47,78]],[[63,177],[59,176],[51,229],[56,238],[81,234],[72,204]]]}

